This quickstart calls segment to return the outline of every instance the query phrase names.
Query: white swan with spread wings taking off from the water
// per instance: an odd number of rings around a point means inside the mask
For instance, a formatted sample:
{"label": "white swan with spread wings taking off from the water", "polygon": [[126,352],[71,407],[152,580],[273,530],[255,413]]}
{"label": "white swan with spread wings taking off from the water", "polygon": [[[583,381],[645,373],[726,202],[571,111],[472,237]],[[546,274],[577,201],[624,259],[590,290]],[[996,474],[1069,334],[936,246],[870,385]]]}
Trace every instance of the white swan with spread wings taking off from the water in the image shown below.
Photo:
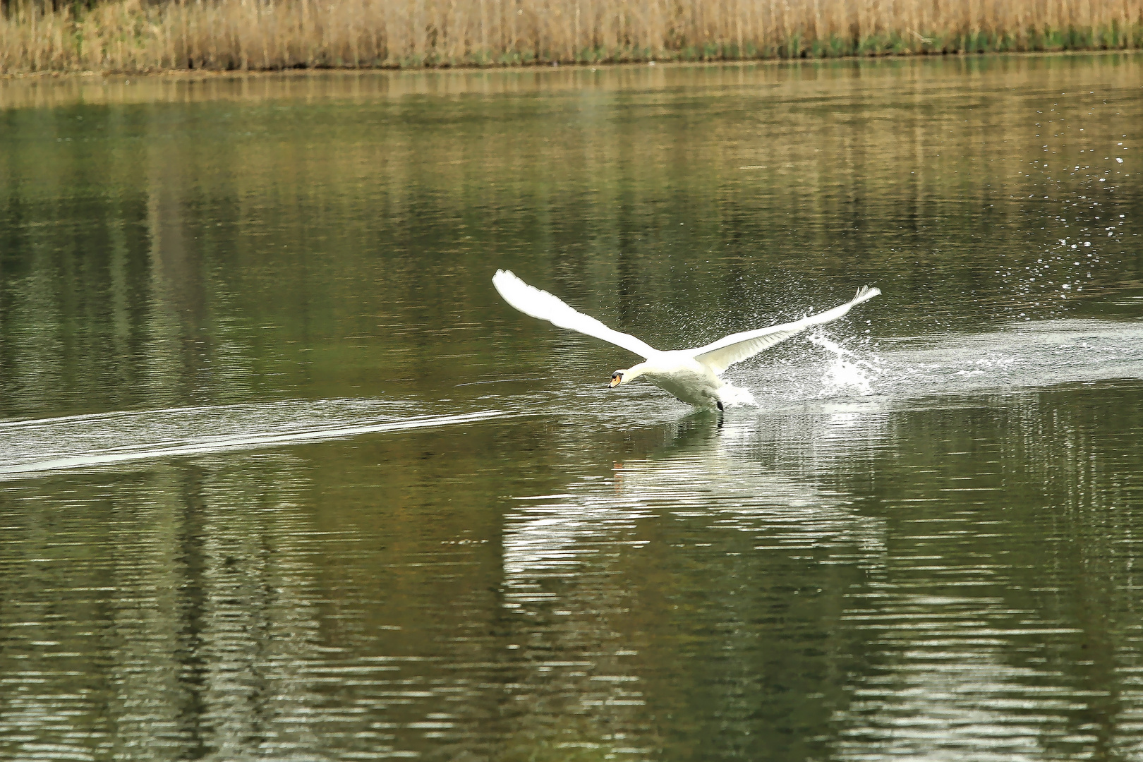
{"label": "white swan with spread wings taking off from the water", "polygon": [[857,295],[849,302],[816,315],[796,320],[792,323],[730,334],[713,344],[694,350],[660,352],[630,334],[621,334],[594,318],[577,312],[559,297],[528,286],[509,270],[497,270],[493,276],[493,286],[496,287],[505,302],[526,315],[546,320],[560,328],[601,338],[616,346],[622,346],[629,352],[634,352],[646,360],[638,366],[612,374],[612,386],[644,377],[688,404],[696,408],[718,408],[719,410],[722,409],[722,401],[727,399],[727,392],[740,391],[719,378],[727,368],[752,358],[762,350],[774,346],[794,334],[800,334],[812,326],[821,326],[837,320],[849,312],[854,305],[872,299],[881,292],[880,289],[863,286],[857,289]]}

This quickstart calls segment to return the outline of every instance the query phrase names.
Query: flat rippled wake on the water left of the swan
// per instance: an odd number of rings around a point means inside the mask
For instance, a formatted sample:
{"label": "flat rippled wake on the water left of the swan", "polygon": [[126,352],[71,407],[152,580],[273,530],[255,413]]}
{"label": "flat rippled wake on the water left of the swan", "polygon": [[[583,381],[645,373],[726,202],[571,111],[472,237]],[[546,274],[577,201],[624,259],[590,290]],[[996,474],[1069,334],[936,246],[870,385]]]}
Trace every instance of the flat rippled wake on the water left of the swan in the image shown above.
{"label": "flat rippled wake on the water left of the swan", "polygon": [[289,401],[0,422],[0,479],[520,415],[499,409],[410,415],[409,407],[377,400]]}

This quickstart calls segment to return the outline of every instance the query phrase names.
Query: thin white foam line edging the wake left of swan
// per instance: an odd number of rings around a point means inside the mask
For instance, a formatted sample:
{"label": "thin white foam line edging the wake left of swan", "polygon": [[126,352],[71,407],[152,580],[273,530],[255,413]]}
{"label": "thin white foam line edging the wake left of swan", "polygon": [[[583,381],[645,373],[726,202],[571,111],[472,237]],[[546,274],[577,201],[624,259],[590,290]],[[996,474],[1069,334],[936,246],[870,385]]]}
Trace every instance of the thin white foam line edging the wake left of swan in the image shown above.
{"label": "thin white foam line edging the wake left of swan", "polygon": [[[233,450],[249,450],[275,444],[291,444],[304,442],[317,442],[329,439],[344,439],[358,436],[360,434],[373,434],[377,432],[408,431],[413,428],[429,428],[434,426],[447,426],[490,418],[503,418],[510,415],[503,410],[477,410],[458,415],[439,416],[416,416],[401,420],[385,420],[370,424],[341,425],[330,427],[311,428],[306,431],[294,431],[283,434],[254,433],[235,434],[211,439],[209,441],[190,442],[184,444],[170,444],[166,447],[154,447],[153,444],[128,444],[111,448],[97,452],[85,452],[81,455],[67,455],[45,460],[22,463],[10,466],[0,466],[0,476],[14,474],[31,474],[38,472],[63,471],[71,468],[87,468],[90,466],[123,463],[127,460],[144,460],[154,458],[166,458],[176,456],[209,455],[214,452],[225,452]],[[56,419],[58,420],[58,419]]]}

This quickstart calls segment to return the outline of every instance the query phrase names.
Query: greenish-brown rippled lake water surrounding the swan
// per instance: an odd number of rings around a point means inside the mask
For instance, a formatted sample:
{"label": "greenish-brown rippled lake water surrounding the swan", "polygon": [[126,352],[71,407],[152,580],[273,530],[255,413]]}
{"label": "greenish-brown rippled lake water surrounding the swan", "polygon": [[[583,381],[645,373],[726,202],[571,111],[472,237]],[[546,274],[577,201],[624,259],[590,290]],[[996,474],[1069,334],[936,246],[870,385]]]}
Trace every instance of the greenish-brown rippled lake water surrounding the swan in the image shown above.
{"label": "greenish-brown rippled lake water surrounding the swan", "polygon": [[[1140,759],[1141,173],[1140,55],[0,81],[0,759]],[[720,418],[497,267],[884,294]]]}

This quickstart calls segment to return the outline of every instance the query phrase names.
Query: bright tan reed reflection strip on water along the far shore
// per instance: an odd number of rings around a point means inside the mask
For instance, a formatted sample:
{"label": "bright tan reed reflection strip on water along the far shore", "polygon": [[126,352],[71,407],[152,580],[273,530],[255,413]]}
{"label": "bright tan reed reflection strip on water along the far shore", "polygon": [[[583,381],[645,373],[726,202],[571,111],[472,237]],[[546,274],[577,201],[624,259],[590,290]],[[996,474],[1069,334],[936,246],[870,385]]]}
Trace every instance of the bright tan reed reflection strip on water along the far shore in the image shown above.
{"label": "bright tan reed reflection strip on water along the far shore", "polygon": [[[136,74],[40,72],[0,75],[0,112],[13,109],[73,104],[197,103],[216,99],[280,98],[349,101],[405,96],[464,96],[543,90],[625,90],[673,87],[703,77],[704,81],[740,87],[744,78],[759,86],[782,86],[792,79],[809,91],[838,80],[857,82],[865,73],[892,73],[902,93],[916,93],[920,82],[941,89],[964,78],[1001,75],[1012,85],[1050,82],[1049,88],[1074,89],[1071,73],[1095,64],[1109,81],[1137,87],[1135,72],[1143,50],[984,54],[964,56],[896,56],[798,61],[711,63],[593,64],[580,66],[515,66],[485,69],[306,69],[286,71],[165,71]],[[711,79],[709,72],[717,74]],[[1116,72],[1116,73],[1112,73]],[[944,83],[944,85],[942,85]]]}

